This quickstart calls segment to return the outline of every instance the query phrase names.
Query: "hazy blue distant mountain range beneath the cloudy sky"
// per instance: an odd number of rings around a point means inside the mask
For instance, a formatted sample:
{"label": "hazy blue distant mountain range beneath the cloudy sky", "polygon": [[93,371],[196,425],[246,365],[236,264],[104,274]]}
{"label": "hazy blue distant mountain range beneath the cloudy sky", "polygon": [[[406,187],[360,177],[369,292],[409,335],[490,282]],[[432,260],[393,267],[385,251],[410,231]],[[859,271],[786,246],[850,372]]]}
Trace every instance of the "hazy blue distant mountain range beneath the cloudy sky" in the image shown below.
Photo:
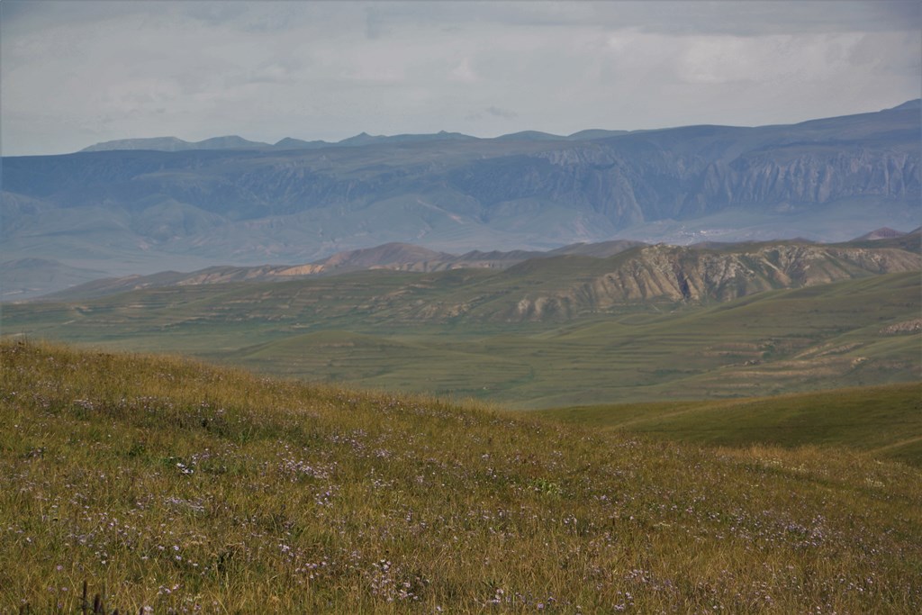
{"label": "hazy blue distant mountain range beneath the cloudy sky", "polygon": [[[465,254],[908,231],[922,223],[920,129],[909,101],[754,128],[164,137],[6,157],[0,286],[34,296],[89,271],[314,263],[391,242]],[[58,274],[19,292],[49,267]]]}

